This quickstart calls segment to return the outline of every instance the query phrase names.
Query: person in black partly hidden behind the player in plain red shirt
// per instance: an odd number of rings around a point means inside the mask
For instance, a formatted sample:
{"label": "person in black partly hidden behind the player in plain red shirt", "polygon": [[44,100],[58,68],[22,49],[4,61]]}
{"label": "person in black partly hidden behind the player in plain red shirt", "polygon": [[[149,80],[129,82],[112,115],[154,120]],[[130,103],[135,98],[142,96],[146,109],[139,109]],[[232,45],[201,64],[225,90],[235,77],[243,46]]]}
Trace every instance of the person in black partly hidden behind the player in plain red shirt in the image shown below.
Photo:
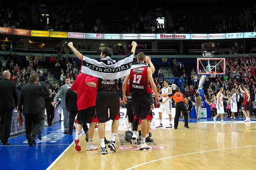
{"label": "person in black partly hidden behind the player in plain red shirt", "polygon": [[77,93],[72,91],[71,88],[66,92],[66,109],[69,111],[69,135],[73,133],[73,125],[76,118],[76,114],[78,113],[77,109]]}

